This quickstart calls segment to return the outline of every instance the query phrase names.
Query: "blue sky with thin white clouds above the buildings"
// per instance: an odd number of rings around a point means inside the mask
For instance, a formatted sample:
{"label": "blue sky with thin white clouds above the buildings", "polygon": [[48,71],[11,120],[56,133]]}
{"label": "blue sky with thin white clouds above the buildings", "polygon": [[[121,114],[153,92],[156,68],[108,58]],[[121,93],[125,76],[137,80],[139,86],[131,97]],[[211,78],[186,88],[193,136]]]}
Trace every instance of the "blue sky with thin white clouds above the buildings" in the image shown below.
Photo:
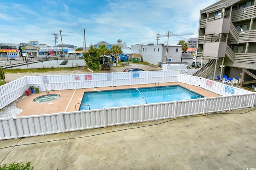
{"label": "blue sky with thin white clouds above the buildings", "polygon": [[[218,0],[12,0],[2,1],[0,42],[38,41],[86,47],[101,41],[128,47],[138,43],[167,43],[166,32],[184,40],[196,38],[200,10]],[[169,37],[169,44],[181,38]]]}

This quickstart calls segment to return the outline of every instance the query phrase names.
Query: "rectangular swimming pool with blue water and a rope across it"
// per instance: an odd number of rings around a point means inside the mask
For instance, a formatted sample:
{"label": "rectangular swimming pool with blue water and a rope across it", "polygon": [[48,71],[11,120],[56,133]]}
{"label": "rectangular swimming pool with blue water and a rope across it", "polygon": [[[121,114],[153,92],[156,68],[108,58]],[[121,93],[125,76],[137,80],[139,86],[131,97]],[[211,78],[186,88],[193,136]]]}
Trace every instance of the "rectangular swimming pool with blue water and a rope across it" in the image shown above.
{"label": "rectangular swimming pool with blue water and a rope across it", "polygon": [[79,110],[204,98],[179,85],[85,92]]}

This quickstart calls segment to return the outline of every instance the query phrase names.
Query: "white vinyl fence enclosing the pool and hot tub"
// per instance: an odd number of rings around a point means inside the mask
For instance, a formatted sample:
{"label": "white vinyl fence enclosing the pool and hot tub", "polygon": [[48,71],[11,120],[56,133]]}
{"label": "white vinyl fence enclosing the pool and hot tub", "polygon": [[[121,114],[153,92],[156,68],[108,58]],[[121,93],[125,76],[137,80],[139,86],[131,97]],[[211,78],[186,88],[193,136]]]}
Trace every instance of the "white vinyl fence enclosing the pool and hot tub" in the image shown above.
{"label": "white vinyl fence enclosing the pool and hot tub", "polygon": [[[136,72],[135,74],[128,72],[23,77],[22,79],[18,79],[19,81],[17,80],[16,83],[24,83],[26,88],[29,85],[39,86],[40,89],[44,90],[45,86],[50,90],[61,90],[156,82],[181,82],[202,87],[223,96],[48,115],[4,118],[0,119],[0,140],[253,107],[256,93],[202,77],[194,77],[191,75],[192,72],[188,75],[188,71],[190,70],[185,70],[183,74],[181,74],[181,70],[178,70],[144,71]],[[7,103],[16,100],[19,96],[18,93],[9,94],[10,89],[17,92],[20,90],[20,93],[24,93],[26,89],[24,85],[21,87],[11,86],[12,85],[4,87],[7,93],[6,96],[11,98],[4,97],[4,99],[8,99],[6,101]],[[2,101],[3,99],[1,98],[1,102]]]}

